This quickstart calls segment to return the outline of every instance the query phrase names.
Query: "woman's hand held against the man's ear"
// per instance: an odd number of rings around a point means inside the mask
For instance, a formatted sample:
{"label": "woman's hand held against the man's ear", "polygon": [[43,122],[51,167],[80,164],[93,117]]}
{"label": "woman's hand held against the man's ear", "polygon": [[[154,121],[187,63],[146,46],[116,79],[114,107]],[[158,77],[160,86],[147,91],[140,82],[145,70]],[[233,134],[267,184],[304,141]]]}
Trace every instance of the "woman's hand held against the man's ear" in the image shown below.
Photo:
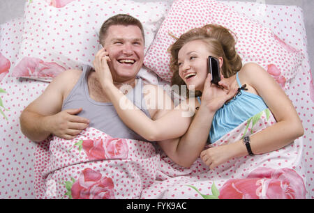
{"label": "woman's hand held against the man's ear", "polygon": [[107,86],[108,84],[113,84],[112,74],[107,62],[110,62],[108,52],[105,51],[105,48],[100,49],[93,61],[93,65],[100,81],[101,86]]}

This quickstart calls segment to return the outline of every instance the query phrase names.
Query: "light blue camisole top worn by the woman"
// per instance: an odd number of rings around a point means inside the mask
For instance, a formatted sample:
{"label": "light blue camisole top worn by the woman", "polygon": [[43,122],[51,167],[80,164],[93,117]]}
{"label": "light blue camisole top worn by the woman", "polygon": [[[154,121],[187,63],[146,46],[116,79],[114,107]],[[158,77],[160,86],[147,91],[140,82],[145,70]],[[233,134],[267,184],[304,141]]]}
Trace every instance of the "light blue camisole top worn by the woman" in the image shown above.
{"label": "light blue camisole top worn by the woman", "polygon": [[[238,73],[237,83],[241,88]],[[197,100],[200,102],[200,97],[197,97]],[[230,102],[216,111],[207,142],[215,143],[232,129],[267,108],[262,97],[241,90]]]}

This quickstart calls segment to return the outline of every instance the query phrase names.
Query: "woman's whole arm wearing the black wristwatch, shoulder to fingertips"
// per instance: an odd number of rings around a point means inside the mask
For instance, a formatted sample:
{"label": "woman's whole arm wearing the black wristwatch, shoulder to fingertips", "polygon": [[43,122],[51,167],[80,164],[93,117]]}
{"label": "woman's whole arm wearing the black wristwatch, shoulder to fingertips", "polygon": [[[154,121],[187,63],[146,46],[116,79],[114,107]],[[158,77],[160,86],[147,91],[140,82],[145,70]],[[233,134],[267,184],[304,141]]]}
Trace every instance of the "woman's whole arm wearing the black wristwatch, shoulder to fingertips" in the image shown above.
{"label": "woman's whole arm wearing the black wristwatch, shoulder to fingertips", "polygon": [[[250,85],[267,104],[277,123],[251,136],[251,149],[254,154],[263,154],[283,148],[304,134],[304,129],[283,89],[259,65],[248,63],[239,72],[242,84]],[[222,155],[222,153],[224,155]],[[248,155],[243,141],[209,148],[201,153],[203,161],[214,168],[233,157]]]}

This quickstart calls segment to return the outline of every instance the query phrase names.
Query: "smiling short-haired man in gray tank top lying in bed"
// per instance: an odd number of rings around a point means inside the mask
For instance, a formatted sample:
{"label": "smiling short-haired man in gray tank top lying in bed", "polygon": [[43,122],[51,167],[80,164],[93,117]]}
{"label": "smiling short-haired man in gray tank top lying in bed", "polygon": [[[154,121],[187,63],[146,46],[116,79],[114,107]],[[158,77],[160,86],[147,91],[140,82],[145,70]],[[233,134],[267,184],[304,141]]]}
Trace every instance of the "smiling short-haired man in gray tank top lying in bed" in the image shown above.
{"label": "smiling short-haired man in gray tank top lying in bed", "polygon": [[[107,61],[104,64],[110,70],[114,86],[131,88],[124,94],[137,109],[151,120],[158,120],[172,111],[172,100],[162,88],[155,85],[143,88],[141,79],[136,79],[144,60],[144,31],[139,20],[130,15],[111,17],[101,27],[99,39],[103,49],[96,54],[96,63]],[[108,91],[103,89],[104,81],[98,77],[99,73],[103,73],[99,69],[102,70],[101,66],[94,72],[93,68],[84,66],[83,72],[67,70],[54,78],[44,93],[22,112],[20,123],[23,134],[32,141],[43,141],[51,134],[74,139],[83,129],[94,127],[112,137],[144,141],[119,118],[110,103],[109,95],[113,93],[106,95]],[[183,111],[194,109],[192,104]],[[191,116],[176,116],[175,122],[183,126],[177,136],[184,134],[191,120]],[[145,138],[156,141],[154,136]],[[198,152],[190,152],[195,142],[192,136],[186,136],[184,141],[179,143],[179,139],[165,136],[165,140],[158,141],[158,145],[177,164],[190,166],[199,155]]]}

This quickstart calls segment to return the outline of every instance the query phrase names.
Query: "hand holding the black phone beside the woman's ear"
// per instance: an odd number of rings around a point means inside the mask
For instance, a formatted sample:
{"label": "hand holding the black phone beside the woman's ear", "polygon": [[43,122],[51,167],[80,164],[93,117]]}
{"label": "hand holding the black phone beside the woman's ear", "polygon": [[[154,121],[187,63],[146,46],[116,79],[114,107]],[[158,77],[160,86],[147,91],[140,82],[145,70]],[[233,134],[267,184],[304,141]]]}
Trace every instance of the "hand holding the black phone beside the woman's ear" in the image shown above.
{"label": "hand holding the black phone beside the woman's ear", "polygon": [[208,75],[202,93],[202,104],[205,104],[210,111],[216,112],[236,93],[237,88],[230,88],[223,81],[219,82],[219,86],[211,84],[210,75]]}

